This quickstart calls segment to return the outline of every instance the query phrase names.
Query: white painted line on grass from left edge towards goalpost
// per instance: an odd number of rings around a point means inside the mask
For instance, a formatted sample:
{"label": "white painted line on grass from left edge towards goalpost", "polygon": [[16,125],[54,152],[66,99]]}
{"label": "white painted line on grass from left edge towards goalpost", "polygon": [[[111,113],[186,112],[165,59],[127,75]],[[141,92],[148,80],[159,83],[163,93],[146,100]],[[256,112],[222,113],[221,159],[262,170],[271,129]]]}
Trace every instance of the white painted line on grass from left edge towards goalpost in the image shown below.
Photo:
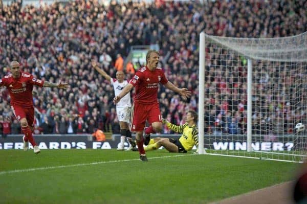
{"label": "white painted line on grass from left edge towards goalpost", "polygon": [[[156,157],[148,157],[149,160],[155,158],[169,158],[169,157],[179,157],[179,156],[191,156],[195,154],[183,154],[183,155],[173,155],[173,156],[156,156]],[[39,168],[31,168],[31,169],[16,169],[11,171],[0,171],[0,175],[11,174],[11,173],[21,173],[21,172],[29,172],[29,171],[38,171],[38,170],[49,170],[49,169],[61,169],[61,168],[69,168],[69,167],[81,167],[81,166],[90,166],[90,165],[98,165],[98,164],[109,164],[109,163],[119,163],[119,162],[131,162],[138,161],[138,158],[134,158],[133,160],[113,160],[113,161],[104,161],[104,162],[92,162],[92,163],[83,163],[83,164],[72,164],[72,165],[62,165],[62,166],[54,166],[54,167],[39,167]]]}

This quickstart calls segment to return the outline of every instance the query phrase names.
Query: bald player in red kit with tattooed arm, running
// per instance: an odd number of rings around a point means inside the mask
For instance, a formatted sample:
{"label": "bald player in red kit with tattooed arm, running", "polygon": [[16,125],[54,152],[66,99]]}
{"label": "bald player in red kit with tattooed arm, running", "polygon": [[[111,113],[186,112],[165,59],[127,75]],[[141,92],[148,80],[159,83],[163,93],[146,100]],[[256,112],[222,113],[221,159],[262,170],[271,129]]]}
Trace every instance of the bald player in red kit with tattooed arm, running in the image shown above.
{"label": "bald player in red kit with tattooed arm, running", "polygon": [[21,130],[25,134],[23,137],[24,150],[28,151],[29,141],[33,146],[34,153],[39,153],[40,149],[32,135],[34,122],[34,106],[32,89],[33,85],[40,87],[57,87],[67,89],[69,87],[66,83],[59,82],[51,83],[42,81],[33,77],[33,75],[20,71],[20,64],[17,61],[10,63],[11,73],[8,76],[0,79],[0,86],[6,86],[11,97],[11,108],[15,117],[19,120]]}

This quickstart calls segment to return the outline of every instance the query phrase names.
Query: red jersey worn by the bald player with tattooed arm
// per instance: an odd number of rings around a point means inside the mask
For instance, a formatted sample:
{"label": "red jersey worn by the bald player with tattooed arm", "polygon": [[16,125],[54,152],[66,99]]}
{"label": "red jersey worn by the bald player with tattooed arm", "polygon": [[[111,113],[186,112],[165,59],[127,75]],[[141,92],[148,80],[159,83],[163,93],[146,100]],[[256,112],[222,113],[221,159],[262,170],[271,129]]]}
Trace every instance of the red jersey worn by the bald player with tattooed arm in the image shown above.
{"label": "red jersey worn by the bald player with tattooed arm", "polygon": [[33,106],[32,89],[33,85],[42,87],[42,80],[33,78],[33,75],[20,72],[20,77],[14,79],[12,75],[0,79],[0,86],[6,86],[11,97],[11,105],[25,107]]}

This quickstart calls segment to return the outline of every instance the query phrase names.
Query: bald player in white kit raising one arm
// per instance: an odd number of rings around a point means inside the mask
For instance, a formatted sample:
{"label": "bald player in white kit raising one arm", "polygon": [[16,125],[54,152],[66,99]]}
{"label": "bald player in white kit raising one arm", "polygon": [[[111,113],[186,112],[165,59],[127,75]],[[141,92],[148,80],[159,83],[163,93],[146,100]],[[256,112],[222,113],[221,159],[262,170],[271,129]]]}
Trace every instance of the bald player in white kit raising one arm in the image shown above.
{"label": "bald player in white kit raising one arm", "polygon": [[[121,90],[128,84],[127,80],[124,80],[125,75],[122,71],[116,73],[116,79],[112,78],[102,69],[100,69],[96,62],[92,62],[95,70],[101,74],[106,80],[110,81],[113,85],[115,96],[119,95]],[[130,146],[126,150],[137,151],[136,143],[132,140],[130,132],[130,117],[131,117],[131,98],[130,94],[127,94],[122,100],[116,105],[117,118],[120,126],[120,146],[117,150],[124,150],[125,138],[130,143]]]}

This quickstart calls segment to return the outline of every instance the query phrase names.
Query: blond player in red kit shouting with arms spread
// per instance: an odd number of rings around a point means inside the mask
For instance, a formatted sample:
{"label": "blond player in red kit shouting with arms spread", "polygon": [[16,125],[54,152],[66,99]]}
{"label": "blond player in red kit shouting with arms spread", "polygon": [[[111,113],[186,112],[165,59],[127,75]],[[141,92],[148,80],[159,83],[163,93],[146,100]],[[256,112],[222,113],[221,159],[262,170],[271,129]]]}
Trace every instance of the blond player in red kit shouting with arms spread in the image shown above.
{"label": "blond player in red kit shouting with arms spread", "polygon": [[[144,162],[148,160],[143,147],[143,131],[145,132],[145,145],[147,145],[150,140],[150,133],[160,132],[162,129],[162,117],[158,102],[158,88],[160,83],[184,98],[191,95],[191,92],[187,88],[178,88],[167,80],[163,70],[157,67],[159,59],[160,56],[157,51],[149,50],[146,54],[146,66],[138,70],[134,78],[129,81],[129,84],[113,100],[114,103],[120,102],[133,87],[136,87],[132,108],[131,131],[136,131],[140,160]],[[146,120],[151,125],[144,130]]]}

